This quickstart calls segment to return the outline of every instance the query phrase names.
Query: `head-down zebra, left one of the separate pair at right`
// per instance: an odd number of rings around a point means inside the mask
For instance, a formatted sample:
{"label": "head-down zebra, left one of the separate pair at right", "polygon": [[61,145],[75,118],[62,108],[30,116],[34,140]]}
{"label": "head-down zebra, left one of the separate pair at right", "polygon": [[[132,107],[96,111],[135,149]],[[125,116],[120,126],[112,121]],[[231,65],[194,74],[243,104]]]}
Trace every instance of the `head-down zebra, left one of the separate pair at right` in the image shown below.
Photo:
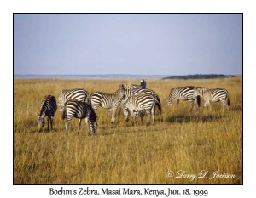
{"label": "head-down zebra, left one of the separate pair at right", "polygon": [[169,97],[166,99],[167,105],[172,105],[172,100],[177,101],[177,105],[179,100],[189,100],[189,103],[191,105],[191,110],[193,110],[194,102],[196,100],[197,106],[200,105],[200,97],[194,98],[194,90],[195,87],[193,86],[186,86],[186,87],[178,87],[178,88],[172,88]]}

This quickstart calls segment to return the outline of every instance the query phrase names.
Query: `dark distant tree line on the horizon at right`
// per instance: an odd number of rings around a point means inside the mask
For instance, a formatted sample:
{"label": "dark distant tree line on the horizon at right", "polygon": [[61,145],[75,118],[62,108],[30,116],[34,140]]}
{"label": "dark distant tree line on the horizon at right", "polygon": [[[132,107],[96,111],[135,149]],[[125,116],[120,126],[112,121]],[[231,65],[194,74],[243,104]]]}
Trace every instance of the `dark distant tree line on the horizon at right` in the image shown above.
{"label": "dark distant tree line on the horizon at right", "polygon": [[195,75],[185,75],[185,76],[170,76],[164,77],[164,79],[210,79],[210,78],[225,78],[225,77],[235,77],[233,75],[224,75],[224,74],[195,74]]}

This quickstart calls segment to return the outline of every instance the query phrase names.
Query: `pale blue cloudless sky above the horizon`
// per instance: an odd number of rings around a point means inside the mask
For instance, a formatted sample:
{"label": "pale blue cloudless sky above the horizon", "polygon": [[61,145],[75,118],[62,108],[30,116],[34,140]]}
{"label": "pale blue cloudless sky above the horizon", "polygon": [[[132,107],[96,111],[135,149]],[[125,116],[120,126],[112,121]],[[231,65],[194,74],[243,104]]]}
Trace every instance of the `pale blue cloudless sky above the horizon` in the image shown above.
{"label": "pale blue cloudless sky above the horizon", "polygon": [[242,14],[14,14],[15,74],[241,74]]}

